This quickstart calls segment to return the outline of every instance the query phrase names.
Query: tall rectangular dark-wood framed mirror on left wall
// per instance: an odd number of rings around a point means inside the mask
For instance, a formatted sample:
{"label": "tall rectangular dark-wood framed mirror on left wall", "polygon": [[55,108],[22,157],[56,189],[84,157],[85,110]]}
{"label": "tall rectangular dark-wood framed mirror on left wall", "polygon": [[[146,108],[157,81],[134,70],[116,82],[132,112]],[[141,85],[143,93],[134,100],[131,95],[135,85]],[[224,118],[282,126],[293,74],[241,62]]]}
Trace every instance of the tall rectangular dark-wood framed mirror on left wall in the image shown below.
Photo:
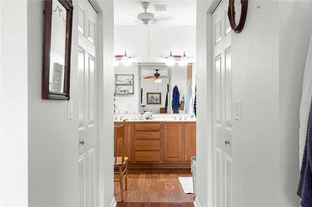
{"label": "tall rectangular dark-wood framed mirror on left wall", "polygon": [[44,16],[41,98],[69,100],[72,1],[46,0]]}

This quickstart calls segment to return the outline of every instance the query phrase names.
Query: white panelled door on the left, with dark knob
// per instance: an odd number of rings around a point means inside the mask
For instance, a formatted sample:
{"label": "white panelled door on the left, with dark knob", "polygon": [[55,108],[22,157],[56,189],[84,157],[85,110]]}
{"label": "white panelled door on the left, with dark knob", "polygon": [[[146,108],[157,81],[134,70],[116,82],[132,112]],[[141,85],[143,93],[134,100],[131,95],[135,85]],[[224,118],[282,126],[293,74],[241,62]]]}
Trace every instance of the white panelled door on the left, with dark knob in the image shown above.
{"label": "white panelled door on the left, with dark knob", "polygon": [[96,34],[98,15],[88,0],[78,1],[79,207],[97,205],[98,126]]}

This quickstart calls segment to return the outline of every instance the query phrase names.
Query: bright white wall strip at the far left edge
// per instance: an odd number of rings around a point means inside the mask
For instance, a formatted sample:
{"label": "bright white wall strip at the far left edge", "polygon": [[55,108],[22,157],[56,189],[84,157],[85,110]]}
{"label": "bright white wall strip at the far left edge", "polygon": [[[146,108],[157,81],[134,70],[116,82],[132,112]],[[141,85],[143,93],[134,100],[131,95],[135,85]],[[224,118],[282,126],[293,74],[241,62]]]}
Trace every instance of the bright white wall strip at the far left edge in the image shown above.
{"label": "bright white wall strip at the far left edge", "polygon": [[27,206],[27,1],[0,1],[0,45],[0,206]]}

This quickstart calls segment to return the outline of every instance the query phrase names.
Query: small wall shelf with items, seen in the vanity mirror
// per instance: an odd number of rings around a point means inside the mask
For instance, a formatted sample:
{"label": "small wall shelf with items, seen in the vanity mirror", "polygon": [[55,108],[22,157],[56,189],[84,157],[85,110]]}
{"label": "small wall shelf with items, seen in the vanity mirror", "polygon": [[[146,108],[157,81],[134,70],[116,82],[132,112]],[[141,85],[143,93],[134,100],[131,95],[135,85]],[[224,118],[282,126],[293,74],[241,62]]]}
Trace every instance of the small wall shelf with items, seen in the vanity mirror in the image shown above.
{"label": "small wall shelf with items, seen in the vanity mirror", "polygon": [[115,75],[115,92],[117,94],[134,94],[133,74],[116,74]]}

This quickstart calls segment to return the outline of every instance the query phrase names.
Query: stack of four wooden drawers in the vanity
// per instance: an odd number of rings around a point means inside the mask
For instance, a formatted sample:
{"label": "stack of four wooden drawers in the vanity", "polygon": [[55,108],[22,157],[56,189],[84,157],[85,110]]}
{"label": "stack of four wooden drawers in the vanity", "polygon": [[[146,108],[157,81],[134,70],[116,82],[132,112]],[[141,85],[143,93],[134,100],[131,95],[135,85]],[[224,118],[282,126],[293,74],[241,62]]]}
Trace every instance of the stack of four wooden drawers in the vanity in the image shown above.
{"label": "stack of four wooden drawers in the vanity", "polygon": [[134,123],[134,162],[161,162],[161,123]]}

